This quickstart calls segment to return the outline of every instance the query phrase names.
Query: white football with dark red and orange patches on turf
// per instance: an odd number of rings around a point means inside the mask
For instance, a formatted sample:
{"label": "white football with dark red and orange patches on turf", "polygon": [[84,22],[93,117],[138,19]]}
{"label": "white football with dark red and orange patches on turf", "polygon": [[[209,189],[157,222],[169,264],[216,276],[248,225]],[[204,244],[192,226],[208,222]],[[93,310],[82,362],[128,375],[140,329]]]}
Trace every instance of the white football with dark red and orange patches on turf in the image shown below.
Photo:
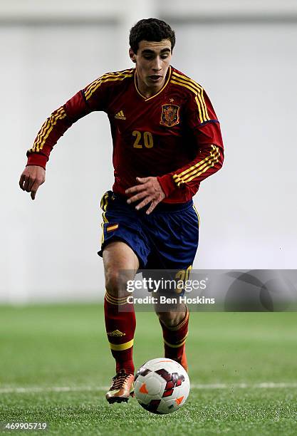
{"label": "white football with dark red and orange patches on turf", "polygon": [[134,392],[142,408],[165,415],[175,412],[187,401],[189,376],[182,365],[174,360],[148,360],[137,370]]}

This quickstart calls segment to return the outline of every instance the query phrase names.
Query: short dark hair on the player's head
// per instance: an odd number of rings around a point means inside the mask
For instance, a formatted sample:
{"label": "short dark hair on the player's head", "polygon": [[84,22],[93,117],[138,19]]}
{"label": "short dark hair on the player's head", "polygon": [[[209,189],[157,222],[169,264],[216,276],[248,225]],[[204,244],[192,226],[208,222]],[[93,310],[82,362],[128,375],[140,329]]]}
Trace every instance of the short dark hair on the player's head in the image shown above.
{"label": "short dark hair on the player's head", "polygon": [[169,39],[171,51],[175,44],[175,33],[169,24],[158,19],[144,19],[138,21],[130,30],[129,43],[132,51],[137,53],[140,41],[156,41]]}

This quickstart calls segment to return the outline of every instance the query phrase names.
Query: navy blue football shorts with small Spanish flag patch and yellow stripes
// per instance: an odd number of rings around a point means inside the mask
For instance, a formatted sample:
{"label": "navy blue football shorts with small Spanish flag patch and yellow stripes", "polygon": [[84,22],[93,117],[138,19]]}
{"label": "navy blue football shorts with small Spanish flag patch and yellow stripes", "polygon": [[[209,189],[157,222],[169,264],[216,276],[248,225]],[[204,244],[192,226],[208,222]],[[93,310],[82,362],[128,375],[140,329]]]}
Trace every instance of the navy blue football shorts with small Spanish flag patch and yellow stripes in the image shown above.
{"label": "navy blue football shorts with small Spanish flag patch and yellow stripes", "polygon": [[140,269],[186,270],[192,266],[199,240],[199,215],[192,200],[158,204],[153,212],[135,209],[127,198],[112,191],[101,199],[103,237],[101,250],[115,240],[131,247]]}

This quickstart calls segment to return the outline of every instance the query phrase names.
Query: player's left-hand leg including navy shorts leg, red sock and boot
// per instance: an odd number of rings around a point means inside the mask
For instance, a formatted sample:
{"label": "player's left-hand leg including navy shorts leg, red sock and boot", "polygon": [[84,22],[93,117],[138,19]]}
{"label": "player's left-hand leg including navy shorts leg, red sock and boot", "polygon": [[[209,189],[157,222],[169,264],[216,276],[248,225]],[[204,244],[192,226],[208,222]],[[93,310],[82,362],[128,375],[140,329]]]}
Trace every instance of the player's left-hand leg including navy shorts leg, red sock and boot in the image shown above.
{"label": "player's left-hand leg including navy shorts leg, red sock and boot", "polygon": [[147,262],[149,244],[134,205],[120,194],[108,191],[100,202],[103,234],[99,256],[103,257],[106,294],[105,326],[116,375],[106,394],[109,403],[127,401],[134,380],[132,360],[135,312],[128,303],[127,281]]}

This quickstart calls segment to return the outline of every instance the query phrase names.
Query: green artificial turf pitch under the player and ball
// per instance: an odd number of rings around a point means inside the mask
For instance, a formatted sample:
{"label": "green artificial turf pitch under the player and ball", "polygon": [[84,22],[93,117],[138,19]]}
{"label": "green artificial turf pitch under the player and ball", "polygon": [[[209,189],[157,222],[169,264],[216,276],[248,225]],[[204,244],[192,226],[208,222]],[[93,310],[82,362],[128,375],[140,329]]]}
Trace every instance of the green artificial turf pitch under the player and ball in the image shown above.
{"label": "green artificial turf pitch under the player and ball", "polygon": [[[48,422],[50,435],[296,435],[296,321],[291,312],[192,313],[191,393],[159,416],[135,399],[106,402],[114,365],[102,306],[0,306],[0,421]],[[137,313],[135,365],[161,355],[157,318]]]}

